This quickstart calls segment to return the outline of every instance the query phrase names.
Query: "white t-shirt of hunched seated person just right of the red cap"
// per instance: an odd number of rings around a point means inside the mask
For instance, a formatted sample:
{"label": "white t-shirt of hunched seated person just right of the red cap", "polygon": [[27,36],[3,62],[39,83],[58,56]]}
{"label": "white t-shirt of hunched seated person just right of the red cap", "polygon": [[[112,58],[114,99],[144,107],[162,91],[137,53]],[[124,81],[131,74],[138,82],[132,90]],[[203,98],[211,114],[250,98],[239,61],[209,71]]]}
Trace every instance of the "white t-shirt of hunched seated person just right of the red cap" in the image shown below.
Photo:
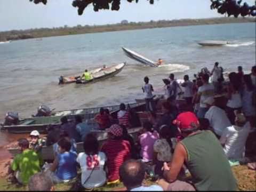
{"label": "white t-shirt of hunched seated person just right of the red cap", "polygon": [[228,126],[231,126],[225,110],[217,106],[211,106],[204,117],[209,120],[214,132],[220,136],[223,130],[225,130]]}

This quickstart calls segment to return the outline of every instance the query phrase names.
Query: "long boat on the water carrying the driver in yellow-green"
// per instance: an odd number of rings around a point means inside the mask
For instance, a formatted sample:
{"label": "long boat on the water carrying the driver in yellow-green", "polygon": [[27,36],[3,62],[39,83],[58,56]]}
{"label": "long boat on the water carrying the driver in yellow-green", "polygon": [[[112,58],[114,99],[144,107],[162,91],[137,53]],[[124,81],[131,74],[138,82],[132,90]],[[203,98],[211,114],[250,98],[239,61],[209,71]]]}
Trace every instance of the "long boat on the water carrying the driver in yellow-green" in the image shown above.
{"label": "long boat on the water carrying the driver in yellow-green", "polygon": [[97,69],[91,70],[89,72],[91,73],[92,79],[89,81],[80,80],[79,79],[80,76],[78,76],[78,77],[76,77],[76,76],[72,76],[72,77],[60,76],[59,84],[69,84],[69,83],[87,84],[87,83],[91,83],[91,82],[96,82],[96,81],[99,81],[102,79],[106,79],[106,78],[115,76],[116,74],[118,74],[122,71],[122,69],[124,68],[125,65],[126,65],[126,62],[118,64],[118,65],[110,66],[106,69],[97,68]]}

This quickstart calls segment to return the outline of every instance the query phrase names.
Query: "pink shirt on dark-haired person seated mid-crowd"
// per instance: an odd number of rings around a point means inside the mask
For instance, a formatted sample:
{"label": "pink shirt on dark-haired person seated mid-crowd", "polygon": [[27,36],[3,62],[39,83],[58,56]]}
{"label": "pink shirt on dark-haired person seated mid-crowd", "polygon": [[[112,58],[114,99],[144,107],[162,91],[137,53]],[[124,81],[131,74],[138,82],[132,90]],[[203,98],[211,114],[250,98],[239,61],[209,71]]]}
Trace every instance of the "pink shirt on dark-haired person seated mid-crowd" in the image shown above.
{"label": "pink shirt on dark-haired person seated mid-crowd", "polygon": [[139,136],[141,145],[140,155],[143,162],[153,160],[154,143],[157,139],[159,139],[159,135],[156,131],[153,133],[147,131]]}

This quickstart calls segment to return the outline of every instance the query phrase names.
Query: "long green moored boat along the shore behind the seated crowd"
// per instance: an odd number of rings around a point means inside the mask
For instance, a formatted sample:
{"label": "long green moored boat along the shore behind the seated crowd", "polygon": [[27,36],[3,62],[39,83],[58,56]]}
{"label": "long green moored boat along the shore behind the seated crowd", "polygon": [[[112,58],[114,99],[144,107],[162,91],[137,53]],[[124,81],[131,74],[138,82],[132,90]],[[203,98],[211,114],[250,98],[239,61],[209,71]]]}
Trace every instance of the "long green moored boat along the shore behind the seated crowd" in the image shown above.
{"label": "long green moored boat along the shore behind the seated crowd", "polygon": [[[127,107],[135,108],[139,106],[137,103],[127,104]],[[108,108],[111,114],[115,114],[115,111],[119,110],[119,105],[103,107]],[[46,116],[46,117],[31,117],[26,119],[21,119],[18,125],[1,125],[1,130],[6,130],[9,133],[30,133],[33,130],[37,130],[39,133],[47,133],[47,127],[59,126],[60,118],[65,115],[69,121],[75,119],[75,115],[82,116],[85,119],[91,119],[96,114],[99,113],[100,107],[97,108],[88,108],[88,109],[75,109],[69,111],[55,111],[55,116]],[[88,112],[88,113],[87,113]]]}

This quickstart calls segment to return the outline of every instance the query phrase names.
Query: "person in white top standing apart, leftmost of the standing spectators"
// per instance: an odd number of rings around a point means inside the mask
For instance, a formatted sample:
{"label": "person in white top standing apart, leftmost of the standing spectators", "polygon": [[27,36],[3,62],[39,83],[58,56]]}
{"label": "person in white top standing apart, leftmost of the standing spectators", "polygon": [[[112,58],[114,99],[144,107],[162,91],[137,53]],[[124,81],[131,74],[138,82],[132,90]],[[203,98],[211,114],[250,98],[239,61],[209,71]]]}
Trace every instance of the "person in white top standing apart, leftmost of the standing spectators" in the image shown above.
{"label": "person in white top standing apart, leftmost of the standing spectators", "polygon": [[154,91],[153,85],[149,84],[149,78],[146,76],[144,77],[145,85],[142,86],[142,91],[145,93],[145,100],[146,100],[146,111],[150,111],[149,105],[151,105],[151,108],[153,111],[155,111],[155,103],[153,100],[153,94]]}

